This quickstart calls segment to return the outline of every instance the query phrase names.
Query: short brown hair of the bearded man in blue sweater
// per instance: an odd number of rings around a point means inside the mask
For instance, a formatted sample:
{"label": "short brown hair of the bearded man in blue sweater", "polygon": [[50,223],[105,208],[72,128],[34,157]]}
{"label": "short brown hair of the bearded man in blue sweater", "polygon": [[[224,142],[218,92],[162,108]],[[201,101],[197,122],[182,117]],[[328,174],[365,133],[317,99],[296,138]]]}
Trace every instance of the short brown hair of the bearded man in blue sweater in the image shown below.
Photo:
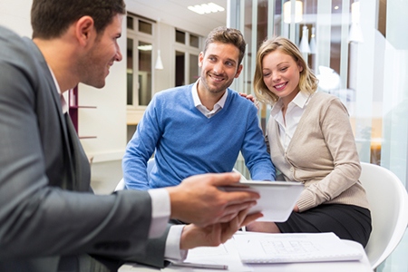
{"label": "short brown hair of the bearded man in blue sweater", "polygon": [[242,62],[245,54],[246,43],[244,36],[238,29],[228,28],[226,26],[219,26],[214,28],[206,39],[204,47],[204,53],[206,53],[209,44],[221,43],[221,44],[233,44],[239,49],[238,64]]}

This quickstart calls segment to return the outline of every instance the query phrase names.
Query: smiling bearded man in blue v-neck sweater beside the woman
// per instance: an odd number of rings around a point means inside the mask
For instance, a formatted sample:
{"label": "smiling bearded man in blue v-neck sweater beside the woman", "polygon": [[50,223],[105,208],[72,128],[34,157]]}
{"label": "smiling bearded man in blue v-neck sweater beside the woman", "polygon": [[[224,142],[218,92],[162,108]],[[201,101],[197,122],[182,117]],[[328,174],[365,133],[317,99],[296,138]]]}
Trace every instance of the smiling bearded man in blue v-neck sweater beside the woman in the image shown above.
{"label": "smiling bearded man in blue v-neck sweater beside the woman", "polygon": [[[153,97],[122,160],[127,189],[175,186],[195,174],[231,171],[239,151],[252,180],[275,180],[257,108],[228,88],[242,71],[245,47],[238,30],[214,29],[199,54],[199,80]],[[153,152],[156,167],[148,180]]]}

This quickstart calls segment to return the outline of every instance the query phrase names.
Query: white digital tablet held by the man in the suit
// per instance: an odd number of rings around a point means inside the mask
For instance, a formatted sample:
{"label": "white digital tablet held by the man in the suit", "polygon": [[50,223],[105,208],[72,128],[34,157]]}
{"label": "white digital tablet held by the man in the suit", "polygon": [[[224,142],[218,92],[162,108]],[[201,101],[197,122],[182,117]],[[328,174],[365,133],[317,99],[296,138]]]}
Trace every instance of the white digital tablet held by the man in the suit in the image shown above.
{"label": "white digital tablet held by the man in the suit", "polygon": [[285,222],[303,188],[303,183],[296,181],[241,180],[237,185],[224,186],[220,189],[257,191],[260,199],[257,199],[257,205],[249,211],[250,213],[262,212],[264,216],[257,221]]}

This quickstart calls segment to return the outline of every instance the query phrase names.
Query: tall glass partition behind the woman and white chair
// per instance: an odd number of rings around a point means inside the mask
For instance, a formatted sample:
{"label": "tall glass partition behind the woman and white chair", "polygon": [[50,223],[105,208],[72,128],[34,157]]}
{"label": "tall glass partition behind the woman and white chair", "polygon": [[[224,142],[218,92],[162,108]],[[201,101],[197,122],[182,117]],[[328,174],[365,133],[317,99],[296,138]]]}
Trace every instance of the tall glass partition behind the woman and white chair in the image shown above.
{"label": "tall glass partition behind the woman and white chair", "polygon": [[[261,41],[274,35],[289,38],[319,78],[318,92],[333,93],[344,102],[360,159],[392,170],[407,188],[408,1],[239,0],[229,4],[233,20],[228,24],[240,29],[248,43],[244,73],[234,88],[253,92],[254,56]],[[259,111],[263,129],[269,110],[262,105]],[[235,167],[248,175],[242,158]],[[388,259],[377,271],[392,271],[386,265],[391,263]]]}

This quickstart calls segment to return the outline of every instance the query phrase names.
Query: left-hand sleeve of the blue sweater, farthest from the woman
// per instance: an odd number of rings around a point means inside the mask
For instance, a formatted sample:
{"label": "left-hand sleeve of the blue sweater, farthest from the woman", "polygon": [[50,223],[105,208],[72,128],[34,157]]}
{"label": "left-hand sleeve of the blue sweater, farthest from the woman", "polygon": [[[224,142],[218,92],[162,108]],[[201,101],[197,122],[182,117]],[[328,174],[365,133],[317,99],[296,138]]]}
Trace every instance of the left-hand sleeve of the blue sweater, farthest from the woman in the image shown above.
{"label": "left-hand sleeve of the blue sweater, farthest from the woman", "polygon": [[123,180],[127,189],[150,189],[147,161],[160,140],[160,121],[157,95],[144,112],[122,160]]}

